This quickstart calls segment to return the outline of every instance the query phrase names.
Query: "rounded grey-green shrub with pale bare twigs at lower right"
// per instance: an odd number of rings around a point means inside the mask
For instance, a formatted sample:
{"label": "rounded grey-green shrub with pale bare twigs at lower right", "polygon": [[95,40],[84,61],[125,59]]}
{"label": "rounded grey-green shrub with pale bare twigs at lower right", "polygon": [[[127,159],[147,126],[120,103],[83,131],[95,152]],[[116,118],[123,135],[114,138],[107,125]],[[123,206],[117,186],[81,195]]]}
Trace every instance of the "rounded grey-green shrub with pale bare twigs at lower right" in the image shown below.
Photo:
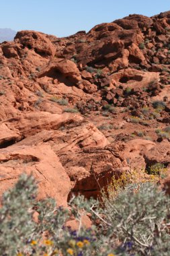
{"label": "rounded grey-green shrub with pale bare twigs at lower right", "polygon": [[128,185],[114,200],[105,200],[103,230],[128,255],[169,255],[170,199],[153,183]]}

